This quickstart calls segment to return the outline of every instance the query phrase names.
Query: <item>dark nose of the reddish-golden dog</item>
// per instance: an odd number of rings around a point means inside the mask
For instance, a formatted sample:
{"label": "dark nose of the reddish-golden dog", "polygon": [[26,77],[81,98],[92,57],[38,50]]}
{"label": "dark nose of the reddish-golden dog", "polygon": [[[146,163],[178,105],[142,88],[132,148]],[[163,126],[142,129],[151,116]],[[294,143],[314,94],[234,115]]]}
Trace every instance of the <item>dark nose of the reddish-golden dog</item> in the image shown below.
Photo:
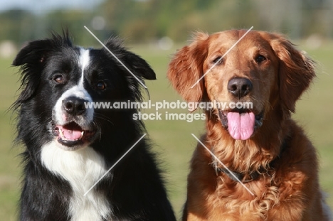
{"label": "dark nose of the reddish-golden dog", "polygon": [[252,90],[252,83],[247,78],[236,77],[228,82],[228,91],[236,97],[244,97]]}

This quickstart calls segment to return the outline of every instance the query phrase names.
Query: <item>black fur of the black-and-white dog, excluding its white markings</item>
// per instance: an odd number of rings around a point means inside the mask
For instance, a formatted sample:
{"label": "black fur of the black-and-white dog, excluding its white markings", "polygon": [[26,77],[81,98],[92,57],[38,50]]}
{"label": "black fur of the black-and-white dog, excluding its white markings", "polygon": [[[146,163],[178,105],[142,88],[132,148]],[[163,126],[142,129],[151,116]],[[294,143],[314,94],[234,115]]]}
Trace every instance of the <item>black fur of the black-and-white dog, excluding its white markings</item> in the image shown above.
{"label": "black fur of the black-and-white dog, excluding its white markings", "polygon": [[[112,53],[143,82],[155,79],[154,71],[139,56],[126,50],[119,39],[107,43]],[[50,131],[52,109],[59,97],[79,79],[75,54],[67,32],[60,36],[28,43],[16,56],[13,65],[21,67],[21,94],[13,104],[18,112],[18,137],[23,152],[24,180],[20,199],[20,219],[70,220],[70,183],[48,171],[41,162],[41,147],[52,141]],[[102,49],[90,49],[85,89],[94,102],[139,101],[139,82]],[[55,85],[52,77],[61,72],[68,78]],[[107,89],[95,90],[95,82],[107,82]],[[97,139],[89,145],[100,153],[107,168],[117,161],[145,132],[144,124],[132,119],[137,109],[95,109]],[[149,141],[142,139],[110,173],[95,186],[112,206],[111,220],[175,220],[160,171],[151,153]]]}

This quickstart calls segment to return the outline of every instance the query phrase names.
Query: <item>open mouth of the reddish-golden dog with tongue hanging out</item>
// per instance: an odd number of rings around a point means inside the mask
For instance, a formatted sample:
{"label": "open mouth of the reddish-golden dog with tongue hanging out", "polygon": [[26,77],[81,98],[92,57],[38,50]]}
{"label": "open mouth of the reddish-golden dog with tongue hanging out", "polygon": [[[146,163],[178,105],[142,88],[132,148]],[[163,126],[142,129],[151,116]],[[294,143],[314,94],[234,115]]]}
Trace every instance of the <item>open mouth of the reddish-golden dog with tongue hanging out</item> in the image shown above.
{"label": "open mouth of the reddish-golden dog with tongue hanging out", "polygon": [[228,129],[229,134],[236,140],[249,139],[263,124],[263,112],[255,114],[250,110],[236,112],[223,112],[218,110],[222,125]]}

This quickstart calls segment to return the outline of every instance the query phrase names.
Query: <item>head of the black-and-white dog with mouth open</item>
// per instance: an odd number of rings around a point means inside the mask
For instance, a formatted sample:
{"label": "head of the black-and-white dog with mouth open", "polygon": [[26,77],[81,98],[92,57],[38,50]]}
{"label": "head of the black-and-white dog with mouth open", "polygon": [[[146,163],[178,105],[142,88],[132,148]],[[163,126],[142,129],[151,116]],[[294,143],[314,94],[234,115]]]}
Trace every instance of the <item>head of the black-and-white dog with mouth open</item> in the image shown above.
{"label": "head of the black-and-white dog with mouth open", "polygon": [[[119,39],[105,45],[137,78],[155,79],[149,65]],[[67,32],[28,43],[13,65],[22,70],[14,107],[20,111],[18,139],[26,144],[56,141],[65,150],[83,148],[100,139],[105,122],[115,126],[121,117],[119,111],[87,108],[88,102],[141,99],[139,82],[105,48],[74,46]]]}

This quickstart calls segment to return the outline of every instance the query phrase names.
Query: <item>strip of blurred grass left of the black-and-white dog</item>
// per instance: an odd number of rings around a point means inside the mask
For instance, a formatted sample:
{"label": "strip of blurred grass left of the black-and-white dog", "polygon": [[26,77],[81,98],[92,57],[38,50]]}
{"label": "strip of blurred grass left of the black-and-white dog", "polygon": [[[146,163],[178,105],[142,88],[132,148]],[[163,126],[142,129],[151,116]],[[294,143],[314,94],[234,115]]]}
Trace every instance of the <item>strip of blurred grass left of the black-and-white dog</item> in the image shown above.
{"label": "strip of blurred grass left of the black-and-white dog", "polygon": [[19,198],[19,148],[12,149],[14,116],[7,112],[14,102],[18,77],[9,68],[11,60],[0,60],[0,220],[17,220],[16,205]]}

